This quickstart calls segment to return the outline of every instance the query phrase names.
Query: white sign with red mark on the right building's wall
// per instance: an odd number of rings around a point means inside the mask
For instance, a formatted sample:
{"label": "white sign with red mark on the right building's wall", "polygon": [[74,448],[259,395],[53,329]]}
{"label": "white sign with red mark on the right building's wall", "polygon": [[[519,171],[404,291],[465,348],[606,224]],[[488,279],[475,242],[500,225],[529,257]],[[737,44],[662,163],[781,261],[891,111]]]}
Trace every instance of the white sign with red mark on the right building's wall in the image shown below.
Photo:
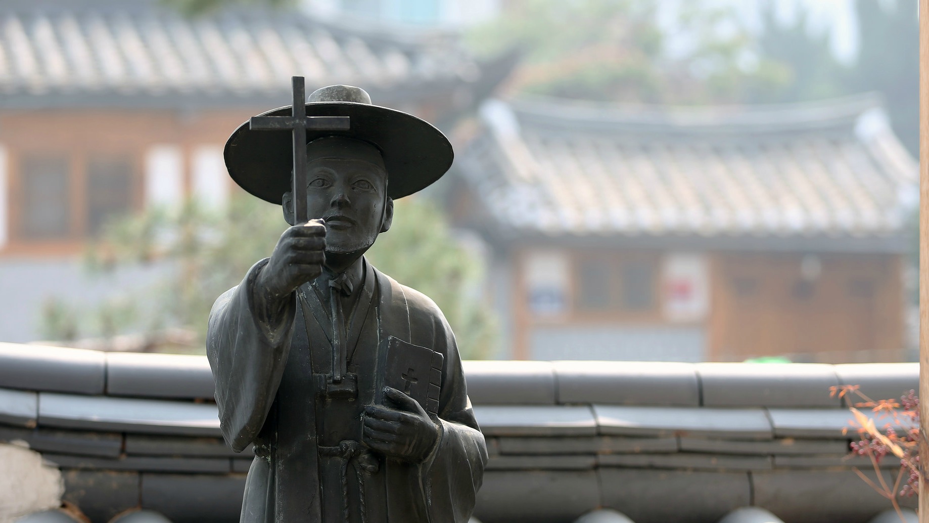
{"label": "white sign with red mark on the right building's wall", "polygon": [[672,253],[661,267],[661,303],[668,321],[701,321],[710,309],[710,275],[705,255]]}

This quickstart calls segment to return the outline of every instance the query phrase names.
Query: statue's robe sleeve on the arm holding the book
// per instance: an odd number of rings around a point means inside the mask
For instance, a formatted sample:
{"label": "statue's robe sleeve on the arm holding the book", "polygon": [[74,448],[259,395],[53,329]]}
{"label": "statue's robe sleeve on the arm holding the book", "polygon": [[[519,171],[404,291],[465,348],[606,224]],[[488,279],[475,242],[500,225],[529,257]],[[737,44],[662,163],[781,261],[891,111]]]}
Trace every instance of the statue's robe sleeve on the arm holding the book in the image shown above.
{"label": "statue's robe sleeve on the arm holding the book", "polygon": [[[438,307],[437,307],[438,310]],[[433,350],[445,355],[439,394],[438,442],[422,466],[431,523],[467,523],[487,464],[487,444],[467,397],[454,334],[441,312],[434,318]]]}

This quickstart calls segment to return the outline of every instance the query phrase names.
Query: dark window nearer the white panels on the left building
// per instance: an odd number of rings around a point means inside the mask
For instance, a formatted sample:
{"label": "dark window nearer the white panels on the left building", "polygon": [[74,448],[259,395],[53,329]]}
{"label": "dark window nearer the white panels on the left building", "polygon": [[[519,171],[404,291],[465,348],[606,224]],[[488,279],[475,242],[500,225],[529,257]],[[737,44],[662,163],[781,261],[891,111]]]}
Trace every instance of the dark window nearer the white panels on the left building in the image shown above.
{"label": "dark window nearer the white panels on the left building", "polygon": [[127,157],[98,157],[87,162],[87,233],[97,234],[111,216],[131,208],[132,161]]}

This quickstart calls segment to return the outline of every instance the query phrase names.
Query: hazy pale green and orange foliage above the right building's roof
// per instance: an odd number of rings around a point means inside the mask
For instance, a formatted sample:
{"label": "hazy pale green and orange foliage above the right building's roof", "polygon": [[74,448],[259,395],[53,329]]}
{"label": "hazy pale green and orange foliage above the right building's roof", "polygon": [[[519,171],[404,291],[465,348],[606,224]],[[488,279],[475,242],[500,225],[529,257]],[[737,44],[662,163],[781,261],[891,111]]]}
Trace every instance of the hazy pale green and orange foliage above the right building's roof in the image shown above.
{"label": "hazy pale green and orange foliage above the right building's roof", "polygon": [[468,35],[478,54],[517,47],[510,87],[559,98],[701,103],[736,97],[752,73],[735,67],[749,41],[731,8],[684,5],[678,25],[697,45],[671,58],[657,3],[523,0]]}

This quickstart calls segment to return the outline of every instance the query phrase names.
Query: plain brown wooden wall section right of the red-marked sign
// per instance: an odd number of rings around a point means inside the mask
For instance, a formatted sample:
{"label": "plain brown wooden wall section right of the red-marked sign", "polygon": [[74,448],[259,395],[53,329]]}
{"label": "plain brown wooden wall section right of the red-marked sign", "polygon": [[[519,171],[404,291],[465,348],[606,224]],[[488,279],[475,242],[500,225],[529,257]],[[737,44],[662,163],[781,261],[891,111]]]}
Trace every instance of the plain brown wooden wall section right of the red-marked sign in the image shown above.
{"label": "plain brown wooden wall section right of the red-marked sign", "polygon": [[902,360],[901,257],[807,256],[807,265],[819,267],[806,271],[804,260],[803,255],[713,256],[709,359]]}

